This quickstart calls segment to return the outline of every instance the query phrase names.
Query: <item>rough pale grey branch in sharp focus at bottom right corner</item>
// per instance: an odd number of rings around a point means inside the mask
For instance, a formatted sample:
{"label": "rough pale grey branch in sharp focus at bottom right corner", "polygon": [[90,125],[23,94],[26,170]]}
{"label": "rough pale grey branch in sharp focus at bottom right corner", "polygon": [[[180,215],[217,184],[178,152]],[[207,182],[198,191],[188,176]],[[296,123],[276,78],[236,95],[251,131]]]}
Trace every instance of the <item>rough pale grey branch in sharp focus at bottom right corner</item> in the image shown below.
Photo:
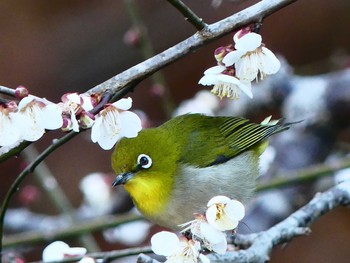
{"label": "rough pale grey branch in sharp focus at bottom right corner", "polygon": [[325,213],[338,206],[350,204],[350,181],[334,186],[324,193],[318,193],[304,207],[267,231],[252,235],[237,235],[234,242],[250,245],[246,250],[228,252],[224,255],[211,254],[211,262],[266,262],[273,247],[292,238],[310,233],[309,226]]}

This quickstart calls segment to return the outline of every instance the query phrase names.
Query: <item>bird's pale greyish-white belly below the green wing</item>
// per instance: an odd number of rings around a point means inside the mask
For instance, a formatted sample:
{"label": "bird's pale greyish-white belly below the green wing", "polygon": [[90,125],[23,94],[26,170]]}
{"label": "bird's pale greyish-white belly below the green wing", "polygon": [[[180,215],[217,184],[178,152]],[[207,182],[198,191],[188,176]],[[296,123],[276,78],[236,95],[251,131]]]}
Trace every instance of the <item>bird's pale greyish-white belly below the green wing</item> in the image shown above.
{"label": "bird's pale greyish-white belly below the green wing", "polygon": [[161,218],[156,218],[160,224],[172,229],[193,220],[194,213],[204,213],[206,204],[216,195],[241,202],[250,198],[259,174],[258,157],[247,151],[219,165],[206,168],[183,166],[180,174],[176,176],[176,187],[166,212],[163,211]]}

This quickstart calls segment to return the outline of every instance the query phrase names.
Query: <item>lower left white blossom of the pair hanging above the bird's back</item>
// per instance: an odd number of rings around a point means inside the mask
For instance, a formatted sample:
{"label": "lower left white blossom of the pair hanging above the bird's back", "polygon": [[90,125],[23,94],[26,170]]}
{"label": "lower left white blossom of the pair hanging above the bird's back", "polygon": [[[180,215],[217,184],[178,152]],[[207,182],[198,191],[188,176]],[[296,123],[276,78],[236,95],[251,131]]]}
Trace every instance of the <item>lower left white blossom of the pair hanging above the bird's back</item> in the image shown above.
{"label": "lower left white blossom of the pair hanging above the bird's back", "polygon": [[198,83],[204,86],[214,85],[211,92],[221,99],[223,97],[238,99],[241,91],[249,98],[253,98],[251,83],[243,82],[233,76],[232,70],[222,65],[211,67],[204,71],[204,76]]}

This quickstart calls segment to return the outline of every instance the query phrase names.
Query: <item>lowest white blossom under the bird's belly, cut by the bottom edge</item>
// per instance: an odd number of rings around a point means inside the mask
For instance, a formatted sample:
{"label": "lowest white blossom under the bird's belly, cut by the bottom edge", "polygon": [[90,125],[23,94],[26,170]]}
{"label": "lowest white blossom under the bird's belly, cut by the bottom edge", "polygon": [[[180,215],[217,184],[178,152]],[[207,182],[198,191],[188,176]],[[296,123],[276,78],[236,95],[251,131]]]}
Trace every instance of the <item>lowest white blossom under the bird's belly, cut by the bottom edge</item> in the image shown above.
{"label": "lowest white blossom under the bird's belly, cut by the bottom edge", "polygon": [[209,262],[209,259],[200,253],[200,243],[186,238],[179,239],[171,232],[162,231],[151,238],[152,250],[158,255],[165,256],[165,262],[197,263]]}

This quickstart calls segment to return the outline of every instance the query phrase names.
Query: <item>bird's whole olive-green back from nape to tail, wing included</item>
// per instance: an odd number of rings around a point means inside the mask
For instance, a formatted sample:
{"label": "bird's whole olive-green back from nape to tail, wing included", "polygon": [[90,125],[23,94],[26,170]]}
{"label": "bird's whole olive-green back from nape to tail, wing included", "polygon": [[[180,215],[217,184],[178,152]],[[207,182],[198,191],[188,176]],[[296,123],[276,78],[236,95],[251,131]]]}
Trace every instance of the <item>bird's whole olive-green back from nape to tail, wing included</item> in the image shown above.
{"label": "bird's whole olive-green back from nape to tail, wing included", "polygon": [[289,127],[277,122],[256,124],[240,117],[200,114],[183,115],[160,126],[183,145],[179,161],[198,167],[226,162],[249,149],[260,155],[267,146],[265,139]]}

